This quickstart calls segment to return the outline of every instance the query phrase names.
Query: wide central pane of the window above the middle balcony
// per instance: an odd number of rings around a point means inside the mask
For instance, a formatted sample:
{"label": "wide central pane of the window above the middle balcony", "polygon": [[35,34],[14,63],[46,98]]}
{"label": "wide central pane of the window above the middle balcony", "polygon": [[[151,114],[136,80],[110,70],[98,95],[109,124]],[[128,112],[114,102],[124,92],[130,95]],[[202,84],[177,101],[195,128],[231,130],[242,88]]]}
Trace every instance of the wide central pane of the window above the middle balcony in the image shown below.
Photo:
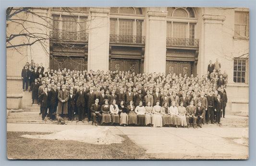
{"label": "wide central pane of the window above the middle balcony", "polygon": [[134,35],[134,20],[119,20],[119,34]]}

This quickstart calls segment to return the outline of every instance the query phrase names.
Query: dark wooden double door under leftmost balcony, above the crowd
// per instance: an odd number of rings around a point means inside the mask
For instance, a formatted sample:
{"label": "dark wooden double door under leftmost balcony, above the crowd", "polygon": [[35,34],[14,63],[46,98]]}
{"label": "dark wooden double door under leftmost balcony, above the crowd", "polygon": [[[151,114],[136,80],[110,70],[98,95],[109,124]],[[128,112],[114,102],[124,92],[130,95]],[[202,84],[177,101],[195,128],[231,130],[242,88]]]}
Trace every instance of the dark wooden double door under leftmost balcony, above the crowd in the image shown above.
{"label": "dark wooden double door under leftmost balcony, above the crowd", "polygon": [[54,70],[58,69],[70,69],[70,70],[85,70],[87,69],[87,62],[85,57],[77,56],[52,56],[50,58],[50,68]]}

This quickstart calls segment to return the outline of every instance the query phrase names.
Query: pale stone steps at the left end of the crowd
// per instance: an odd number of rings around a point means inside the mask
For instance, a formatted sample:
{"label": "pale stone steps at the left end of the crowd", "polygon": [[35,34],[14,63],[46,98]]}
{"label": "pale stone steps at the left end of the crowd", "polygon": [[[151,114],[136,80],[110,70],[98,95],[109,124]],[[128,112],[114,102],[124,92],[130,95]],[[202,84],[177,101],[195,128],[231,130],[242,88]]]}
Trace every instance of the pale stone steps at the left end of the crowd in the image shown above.
{"label": "pale stone steps at the left end of the crowd", "polygon": [[[39,115],[40,107],[38,104],[32,104],[32,106],[26,106],[23,110],[8,110],[7,111],[7,123],[37,123],[37,124],[57,124],[57,121],[50,121],[49,117],[42,121],[42,115]],[[64,118],[67,124],[91,124],[91,122],[76,122],[68,121]]]}

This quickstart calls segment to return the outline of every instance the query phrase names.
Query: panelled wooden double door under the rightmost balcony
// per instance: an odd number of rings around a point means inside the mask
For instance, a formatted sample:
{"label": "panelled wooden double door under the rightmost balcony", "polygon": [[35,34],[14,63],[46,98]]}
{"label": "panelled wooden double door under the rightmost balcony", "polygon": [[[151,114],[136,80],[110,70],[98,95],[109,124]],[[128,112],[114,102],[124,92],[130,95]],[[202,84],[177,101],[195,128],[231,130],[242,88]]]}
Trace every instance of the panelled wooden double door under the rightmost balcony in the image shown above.
{"label": "panelled wooden double door under the rightmost balcony", "polygon": [[179,75],[180,73],[182,76],[186,74],[190,77],[193,73],[193,63],[192,62],[183,62],[183,61],[166,61],[166,74],[173,74]]}

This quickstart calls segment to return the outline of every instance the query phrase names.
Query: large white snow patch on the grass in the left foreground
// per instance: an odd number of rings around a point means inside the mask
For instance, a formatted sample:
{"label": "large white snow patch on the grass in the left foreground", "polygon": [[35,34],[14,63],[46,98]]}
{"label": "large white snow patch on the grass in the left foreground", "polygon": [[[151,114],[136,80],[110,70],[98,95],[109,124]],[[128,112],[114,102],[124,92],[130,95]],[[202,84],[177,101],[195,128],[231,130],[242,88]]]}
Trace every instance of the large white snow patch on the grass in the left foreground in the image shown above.
{"label": "large white snow patch on the grass in the left foreground", "polygon": [[90,144],[121,144],[123,137],[111,133],[108,127],[105,129],[64,130],[51,134],[22,135],[25,138],[46,140],[73,140]]}

